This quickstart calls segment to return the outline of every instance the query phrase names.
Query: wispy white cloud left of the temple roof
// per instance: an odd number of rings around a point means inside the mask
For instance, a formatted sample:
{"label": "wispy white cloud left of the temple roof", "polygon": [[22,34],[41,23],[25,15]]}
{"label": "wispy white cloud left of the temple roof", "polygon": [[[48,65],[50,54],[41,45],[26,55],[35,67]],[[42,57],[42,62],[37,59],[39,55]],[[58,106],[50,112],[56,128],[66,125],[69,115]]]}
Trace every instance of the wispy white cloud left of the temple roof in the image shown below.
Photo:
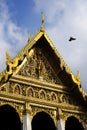
{"label": "wispy white cloud left of the temple roof", "polygon": [[[12,13],[12,12],[11,12]],[[11,57],[20,50],[26,38],[23,30],[11,19],[11,14],[4,0],[0,1],[0,71],[5,68],[5,52],[9,51]]]}

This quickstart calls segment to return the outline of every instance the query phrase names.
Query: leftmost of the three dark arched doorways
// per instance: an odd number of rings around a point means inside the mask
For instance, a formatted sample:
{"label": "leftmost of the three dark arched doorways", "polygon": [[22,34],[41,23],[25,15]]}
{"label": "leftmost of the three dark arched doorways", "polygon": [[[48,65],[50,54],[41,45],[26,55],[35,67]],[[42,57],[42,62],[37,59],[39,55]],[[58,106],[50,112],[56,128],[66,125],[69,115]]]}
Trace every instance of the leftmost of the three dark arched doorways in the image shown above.
{"label": "leftmost of the three dark arched doorways", "polygon": [[0,107],[0,130],[21,130],[19,115],[9,105]]}

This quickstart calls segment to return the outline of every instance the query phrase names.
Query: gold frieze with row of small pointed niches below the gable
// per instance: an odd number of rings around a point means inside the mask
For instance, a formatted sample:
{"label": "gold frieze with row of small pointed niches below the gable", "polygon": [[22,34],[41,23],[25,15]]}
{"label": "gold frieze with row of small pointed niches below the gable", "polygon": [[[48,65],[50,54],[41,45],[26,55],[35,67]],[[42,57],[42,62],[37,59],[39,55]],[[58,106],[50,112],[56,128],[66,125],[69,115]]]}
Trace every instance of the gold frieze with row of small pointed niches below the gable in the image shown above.
{"label": "gold frieze with row of small pointed niches below the gable", "polygon": [[26,96],[31,98],[38,98],[46,101],[52,101],[56,103],[63,103],[63,104],[76,104],[76,101],[70,94],[65,94],[62,92],[53,91],[53,89],[48,90],[43,86],[33,86],[33,85],[24,85],[21,83],[16,82],[8,82],[3,84],[0,87],[0,93],[9,93],[15,94],[17,96]]}

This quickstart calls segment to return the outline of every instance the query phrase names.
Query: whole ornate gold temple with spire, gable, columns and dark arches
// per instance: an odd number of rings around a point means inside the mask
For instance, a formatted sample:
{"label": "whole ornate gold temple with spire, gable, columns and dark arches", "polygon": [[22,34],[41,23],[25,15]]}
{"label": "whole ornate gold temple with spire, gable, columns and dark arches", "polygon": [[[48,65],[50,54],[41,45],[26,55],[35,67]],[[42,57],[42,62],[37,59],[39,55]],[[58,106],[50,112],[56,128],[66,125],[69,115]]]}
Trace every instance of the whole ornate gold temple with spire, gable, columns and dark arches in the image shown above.
{"label": "whole ornate gold temple with spire, gable, columns and dark arches", "polygon": [[1,130],[86,130],[87,94],[44,28],[0,73]]}

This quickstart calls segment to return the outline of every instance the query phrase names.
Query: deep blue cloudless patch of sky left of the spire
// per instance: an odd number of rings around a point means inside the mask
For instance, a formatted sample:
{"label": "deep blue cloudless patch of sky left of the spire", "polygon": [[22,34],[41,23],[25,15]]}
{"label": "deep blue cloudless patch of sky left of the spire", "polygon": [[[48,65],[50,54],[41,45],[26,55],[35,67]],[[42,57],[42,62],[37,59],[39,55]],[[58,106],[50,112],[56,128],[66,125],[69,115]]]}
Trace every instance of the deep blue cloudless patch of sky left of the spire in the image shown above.
{"label": "deep blue cloudless patch of sky left of the spire", "polygon": [[[31,33],[40,24],[39,12],[35,11],[33,0],[4,0],[10,13],[10,18],[21,28],[26,28]],[[36,15],[35,15],[36,14]],[[38,24],[37,24],[38,23]]]}

